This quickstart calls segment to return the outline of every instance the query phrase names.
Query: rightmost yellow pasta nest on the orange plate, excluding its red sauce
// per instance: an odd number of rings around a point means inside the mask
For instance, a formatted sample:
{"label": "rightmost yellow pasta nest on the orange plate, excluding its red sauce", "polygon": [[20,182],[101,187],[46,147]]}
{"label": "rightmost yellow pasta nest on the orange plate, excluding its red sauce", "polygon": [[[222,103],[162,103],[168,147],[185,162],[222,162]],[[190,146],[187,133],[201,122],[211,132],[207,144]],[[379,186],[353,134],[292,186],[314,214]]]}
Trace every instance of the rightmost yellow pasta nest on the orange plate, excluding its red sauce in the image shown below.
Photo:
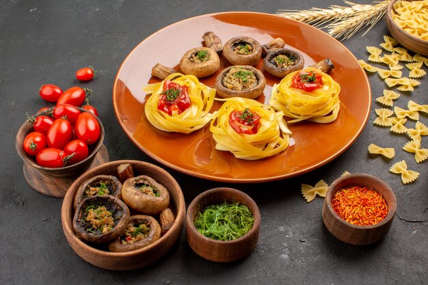
{"label": "rightmost yellow pasta nest on the orange plate, excluding its red sauce", "polygon": [[305,71],[320,75],[323,84],[310,92],[292,87],[293,77],[301,70],[291,72],[279,84],[273,85],[269,105],[284,112],[284,115],[295,118],[288,122],[310,120],[318,123],[329,123],[336,120],[339,109],[340,85],[317,68],[306,68]]}

